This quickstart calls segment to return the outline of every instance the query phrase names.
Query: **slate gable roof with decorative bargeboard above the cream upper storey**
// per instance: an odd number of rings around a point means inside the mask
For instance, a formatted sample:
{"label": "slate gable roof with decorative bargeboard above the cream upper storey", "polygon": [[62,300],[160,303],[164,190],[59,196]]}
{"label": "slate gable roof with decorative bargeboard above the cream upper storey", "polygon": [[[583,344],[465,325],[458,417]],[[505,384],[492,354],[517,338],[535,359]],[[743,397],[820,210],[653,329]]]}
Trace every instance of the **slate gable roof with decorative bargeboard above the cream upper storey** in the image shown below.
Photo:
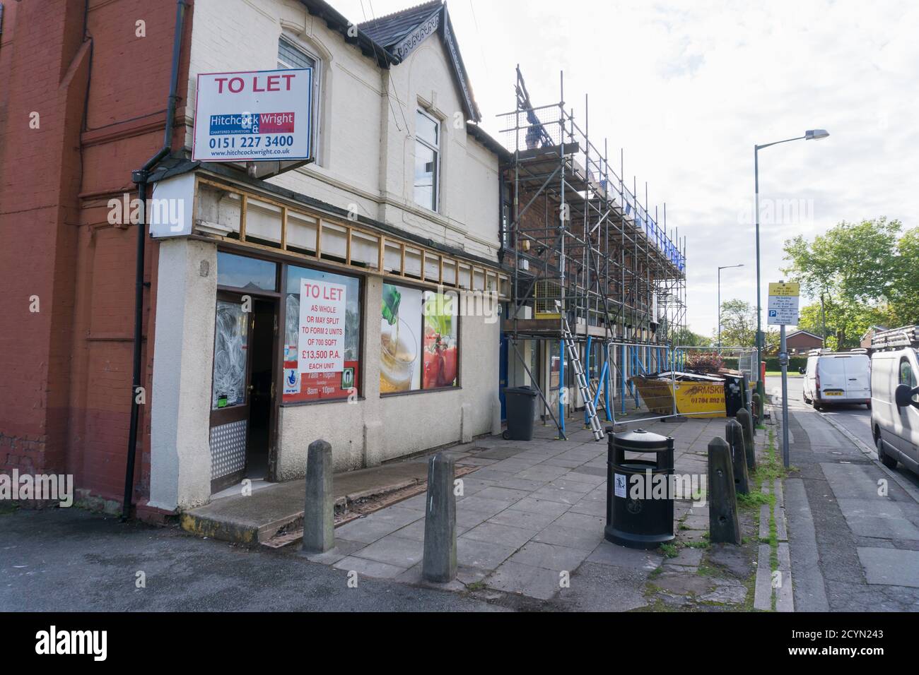
{"label": "slate gable roof with decorative bargeboard above the cream upper storey", "polygon": [[422,42],[432,35],[439,35],[447,49],[452,66],[453,79],[460,92],[467,118],[481,121],[482,113],[472,96],[472,87],[462,55],[459,53],[456,34],[447,12],[447,4],[432,0],[357,24],[357,29],[372,39],[387,53],[403,62]]}

